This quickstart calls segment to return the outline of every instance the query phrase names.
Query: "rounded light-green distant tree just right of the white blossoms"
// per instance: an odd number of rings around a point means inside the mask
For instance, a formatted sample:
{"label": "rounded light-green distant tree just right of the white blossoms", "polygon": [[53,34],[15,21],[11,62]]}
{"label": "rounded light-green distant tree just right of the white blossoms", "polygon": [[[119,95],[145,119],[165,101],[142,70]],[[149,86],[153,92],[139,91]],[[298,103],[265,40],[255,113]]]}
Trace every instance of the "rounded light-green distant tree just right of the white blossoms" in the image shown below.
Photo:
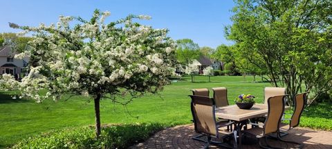
{"label": "rounded light-green distant tree just right of the white blossoms", "polygon": [[189,64],[193,59],[199,59],[201,55],[199,44],[192,39],[178,39],[176,41],[176,59],[183,65]]}

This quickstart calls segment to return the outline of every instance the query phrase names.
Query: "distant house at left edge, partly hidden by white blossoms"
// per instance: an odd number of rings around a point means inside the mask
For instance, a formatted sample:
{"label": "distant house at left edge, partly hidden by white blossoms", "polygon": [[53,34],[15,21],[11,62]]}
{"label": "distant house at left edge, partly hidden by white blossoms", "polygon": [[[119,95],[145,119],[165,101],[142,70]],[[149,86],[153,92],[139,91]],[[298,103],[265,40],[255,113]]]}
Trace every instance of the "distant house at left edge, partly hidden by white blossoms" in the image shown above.
{"label": "distant house at left edge, partly hidden by white blossoms", "polygon": [[15,53],[12,52],[10,46],[0,48],[0,74],[12,74],[18,77],[18,74],[28,66],[28,58],[15,59]]}

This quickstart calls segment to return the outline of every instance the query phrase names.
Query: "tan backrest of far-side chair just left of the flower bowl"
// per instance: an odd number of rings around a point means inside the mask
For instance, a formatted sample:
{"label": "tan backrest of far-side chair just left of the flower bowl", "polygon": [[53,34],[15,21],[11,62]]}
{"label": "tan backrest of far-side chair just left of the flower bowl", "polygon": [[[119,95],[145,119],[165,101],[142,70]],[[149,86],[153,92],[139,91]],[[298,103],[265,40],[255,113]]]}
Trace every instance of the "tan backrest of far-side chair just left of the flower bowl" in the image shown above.
{"label": "tan backrest of far-side chair just left of the flower bowl", "polygon": [[216,102],[216,107],[228,106],[227,88],[212,88],[213,99]]}

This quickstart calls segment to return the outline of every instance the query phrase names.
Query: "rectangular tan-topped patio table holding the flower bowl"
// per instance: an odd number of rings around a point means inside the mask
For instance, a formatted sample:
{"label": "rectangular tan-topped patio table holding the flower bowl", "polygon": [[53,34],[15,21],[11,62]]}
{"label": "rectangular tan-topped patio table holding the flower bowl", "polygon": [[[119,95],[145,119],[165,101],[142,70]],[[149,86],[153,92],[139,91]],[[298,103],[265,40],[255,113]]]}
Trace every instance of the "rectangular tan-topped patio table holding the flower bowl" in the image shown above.
{"label": "rectangular tan-topped patio table holding the flower bowl", "polygon": [[[290,109],[291,107],[286,106],[285,110]],[[235,127],[234,130],[237,130],[239,134],[239,146],[241,148],[241,128],[247,123],[248,119],[255,117],[261,117],[268,114],[268,105],[262,103],[255,103],[252,108],[249,110],[240,109],[237,105],[223,106],[216,108],[215,110],[216,117],[221,119],[230,119],[234,121]]]}

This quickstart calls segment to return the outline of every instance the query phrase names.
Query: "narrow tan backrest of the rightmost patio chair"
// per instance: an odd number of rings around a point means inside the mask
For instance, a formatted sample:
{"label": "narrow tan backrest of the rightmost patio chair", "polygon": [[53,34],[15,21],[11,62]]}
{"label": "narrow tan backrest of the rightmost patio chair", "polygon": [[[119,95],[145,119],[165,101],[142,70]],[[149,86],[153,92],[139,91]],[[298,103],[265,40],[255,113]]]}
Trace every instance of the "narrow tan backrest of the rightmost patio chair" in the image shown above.
{"label": "narrow tan backrest of the rightmost patio chair", "polygon": [[306,95],[308,92],[304,92],[295,96],[295,109],[291,118],[290,128],[295,128],[299,125],[299,118],[304,110]]}

